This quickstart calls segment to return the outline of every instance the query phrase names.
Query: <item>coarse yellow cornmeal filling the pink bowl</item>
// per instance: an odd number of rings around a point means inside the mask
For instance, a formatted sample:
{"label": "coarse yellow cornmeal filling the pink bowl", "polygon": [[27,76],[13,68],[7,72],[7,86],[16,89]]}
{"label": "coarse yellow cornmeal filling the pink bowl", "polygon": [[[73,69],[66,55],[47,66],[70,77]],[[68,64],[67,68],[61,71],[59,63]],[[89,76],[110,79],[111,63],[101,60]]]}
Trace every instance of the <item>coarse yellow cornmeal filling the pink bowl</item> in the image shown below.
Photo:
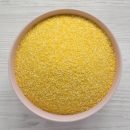
{"label": "coarse yellow cornmeal filling the pink bowl", "polygon": [[16,51],[19,87],[34,105],[51,113],[91,109],[108,93],[115,73],[108,36],[92,21],[75,15],[41,21]]}

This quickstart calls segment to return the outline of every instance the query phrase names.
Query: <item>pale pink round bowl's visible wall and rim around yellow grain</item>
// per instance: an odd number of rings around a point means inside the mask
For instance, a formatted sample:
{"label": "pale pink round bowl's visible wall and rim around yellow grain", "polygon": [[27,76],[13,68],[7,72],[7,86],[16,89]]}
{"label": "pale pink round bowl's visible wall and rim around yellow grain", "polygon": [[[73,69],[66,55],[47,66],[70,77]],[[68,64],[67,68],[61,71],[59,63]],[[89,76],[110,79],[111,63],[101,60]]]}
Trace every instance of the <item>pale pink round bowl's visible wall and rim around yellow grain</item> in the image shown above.
{"label": "pale pink round bowl's visible wall and rim around yellow grain", "polygon": [[[68,15],[72,14],[72,15],[81,16],[81,17],[84,17],[84,18],[89,19],[89,20],[93,21],[94,23],[96,23],[102,30],[105,31],[107,36],[110,38],[110,40],[112,42],[112,46],[113,46],[115,54],[116,54],[116,60],[117,60],[116,74],[113,79],[112,86],[111,86],[110,90],[108,91],[108,94],[103,98],[102,101],[100,101],[97,105],[95,105],[90,110],[84,111],[81,113],[77,113],[77,114],[72,114],[72,115],[58,115],[58,114],[49,113],[47,111],[44,111],[44,110],[38,108],[33,103],[31,103],[31,101],[29,101],[29,99],[27,99],[24,96],[24,94],[22,93],[22,90],[19,88],[19,86],[16,82],[15,72],[13,69],[16,49],[20,43],[20,40],[26,34],[26,32],[28,32],[29,29],[31,29],[34,25],[36,25],[37,23],[39,23],[42,20],[45,20],[45,19],[55,16],[55,15],[64,15],[64,14],[68,14]],[[8,72],[9,72],[9,79],[11,81],[12,87],[13,87],[16,95],[29,110],[31,110],[36,115],[38,115],[44,119],[51,120],[51,121],[72,122],[72,121],[78,121],[78,120],[81,120],[81,119],[84,119],[84,118],[87,118],[87,117],[93,115],[94,113],[99,111],[110,100],[110,98],[112,97],[113,93],[115,92],[115,90],[118,86],[120,76],[121,76],[121,54],[120,54],[118,44],[117,44],[113,34],[111,33],[111,31],[107,28],[107,26],[104,23],[102,23],[95,16],[93,16],[87,12],[83,12],[83,11],[75,10],[75,9],[58,9],[58,10],[49,11],[47,13],[44,13],[44,14],[36,17],[34,20],[32,20],[32,22],[27,24],[24,27],[24,29],[19,33],[18,37],[16,38],[16,40],[12,46],[11,52],[10,52],[9,63],[8,63]]]}

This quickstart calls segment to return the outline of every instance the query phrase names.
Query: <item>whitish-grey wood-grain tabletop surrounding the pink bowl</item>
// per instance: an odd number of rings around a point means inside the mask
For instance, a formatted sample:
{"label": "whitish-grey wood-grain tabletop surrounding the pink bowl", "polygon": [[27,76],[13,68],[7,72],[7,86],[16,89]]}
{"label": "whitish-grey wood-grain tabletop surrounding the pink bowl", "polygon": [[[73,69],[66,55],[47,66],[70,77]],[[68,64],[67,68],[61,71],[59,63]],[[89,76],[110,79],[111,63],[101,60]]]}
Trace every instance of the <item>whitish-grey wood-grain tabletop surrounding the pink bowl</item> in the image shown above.
{"label": "whitish-grey wood-grain tabletop surrounding the pink bowl", "polygon": [[[8,78],[10,48],[36,16],[61,8],[80,9],[102,20],[114,33],[123,60],[120,85],[112,100],[88,119],[56,123],[30,112]],[[0,130],[130,130],[130,0],[0,0]]]}

